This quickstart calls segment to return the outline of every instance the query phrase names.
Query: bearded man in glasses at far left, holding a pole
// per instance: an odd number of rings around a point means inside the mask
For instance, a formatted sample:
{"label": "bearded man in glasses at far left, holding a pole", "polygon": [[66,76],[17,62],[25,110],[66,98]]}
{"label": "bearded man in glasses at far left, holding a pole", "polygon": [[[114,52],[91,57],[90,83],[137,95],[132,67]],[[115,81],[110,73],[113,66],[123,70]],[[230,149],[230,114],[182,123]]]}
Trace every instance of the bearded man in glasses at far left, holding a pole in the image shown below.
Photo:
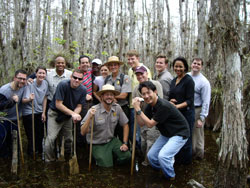
{"label": "bearded man in glasses at far left, holding a pole", "polygon": [[7,113],[5,118],[11,120],[0,121],[0,157],[10,157],[11,150],[11,133],[17,130],[17,113],[16,103],[19,112],[21,100],[26,85],[27,73],[24,70],[17,70],[12,82],[3,85],[0,88],[0,111]]}

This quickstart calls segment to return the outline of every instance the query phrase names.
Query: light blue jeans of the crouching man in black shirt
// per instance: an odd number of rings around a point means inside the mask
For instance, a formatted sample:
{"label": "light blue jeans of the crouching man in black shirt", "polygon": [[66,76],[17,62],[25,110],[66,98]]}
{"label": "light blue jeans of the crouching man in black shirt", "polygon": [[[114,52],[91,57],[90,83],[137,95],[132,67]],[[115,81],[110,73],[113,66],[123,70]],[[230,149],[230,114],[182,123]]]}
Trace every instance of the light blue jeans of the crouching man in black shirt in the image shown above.
{"label": "light blue jeans of the crouching man in black shirt", "polygon": [[148,160],[155,169],[161,169],[167,178],[175,177],[174,156],[187,142],[182,136],[170,138],[160,135],[148,152]]}

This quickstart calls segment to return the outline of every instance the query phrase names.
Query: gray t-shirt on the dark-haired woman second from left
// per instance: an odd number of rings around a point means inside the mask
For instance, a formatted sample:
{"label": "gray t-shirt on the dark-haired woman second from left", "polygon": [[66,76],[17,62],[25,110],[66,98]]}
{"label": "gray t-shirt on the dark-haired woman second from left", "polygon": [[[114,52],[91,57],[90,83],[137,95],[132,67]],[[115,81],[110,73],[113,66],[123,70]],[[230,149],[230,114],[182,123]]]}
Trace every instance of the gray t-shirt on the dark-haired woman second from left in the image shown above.
{"label": "gray t-shirt on the dark-haired woman second from left", "polygon": [[[42,113],[44,97],[49,95],[48,82],[46,80],[43,80],[41,85],[38,85],[35,79],[32,84],[26,86],[23,94],[23,99],[28,99],[31,93],[35,94],[34,113]],[[23,104],[22,112],[23,116],[32,114],[32,102]]]}

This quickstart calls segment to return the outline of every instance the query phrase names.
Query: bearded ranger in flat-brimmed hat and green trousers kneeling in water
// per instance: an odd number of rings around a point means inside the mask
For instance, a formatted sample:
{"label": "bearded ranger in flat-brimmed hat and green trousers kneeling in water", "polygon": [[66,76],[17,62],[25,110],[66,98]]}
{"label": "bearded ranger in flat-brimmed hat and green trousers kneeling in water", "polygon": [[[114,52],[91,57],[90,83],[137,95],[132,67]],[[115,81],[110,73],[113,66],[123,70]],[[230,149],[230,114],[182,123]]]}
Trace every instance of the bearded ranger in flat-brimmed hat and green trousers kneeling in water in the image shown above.
{"label": "bearded ranger in flat-brimmed hat and green trousers kneeling in water", "polygon": [[[113,155],[115,155],[117,164],[127,162],[131,153],[128,151],[128,118],[123,112],[121,106],[114,103],[115,96],[120,92],[116,91],[114,86],[106,84],[102,90],[96,93],[101,98],[101,103],[89,109],[87,115],[82,120],[81,134],[87,134],[87,141],[90,142],[90,129],[93,120],[93,157],[98,166],[113,166]],[[123,127],[123,143],[114,137],[115,127]]]}

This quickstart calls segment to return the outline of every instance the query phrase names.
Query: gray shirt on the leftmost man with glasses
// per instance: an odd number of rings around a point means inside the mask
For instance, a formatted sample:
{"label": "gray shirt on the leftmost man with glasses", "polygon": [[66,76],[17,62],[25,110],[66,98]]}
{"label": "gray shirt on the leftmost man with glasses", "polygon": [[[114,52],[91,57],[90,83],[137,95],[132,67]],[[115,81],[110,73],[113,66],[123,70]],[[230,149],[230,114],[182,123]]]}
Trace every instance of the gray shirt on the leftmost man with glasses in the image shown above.
{"label": "gray shirt on the leftmost man with glasses", "polygon": [[[24,92],[24,87],[18,89],[18,90],[13,90],[10,86],[11,83],[5,84],[0,88],[0,93],[2,95],[4,95],[8,100],[12,100],[12,96],[13,95],[17,95],[18,96],[18,112],[19,112],[19,116],[21,115],[21,103],[20,101],[22,100],[23,97],[23,92]],[[3,110],[3,112],[7,113],[6,118],[8,118],[9,120],[17,120],[16,117],[16,105],[12,106],[11,108],[5,109]]]}

